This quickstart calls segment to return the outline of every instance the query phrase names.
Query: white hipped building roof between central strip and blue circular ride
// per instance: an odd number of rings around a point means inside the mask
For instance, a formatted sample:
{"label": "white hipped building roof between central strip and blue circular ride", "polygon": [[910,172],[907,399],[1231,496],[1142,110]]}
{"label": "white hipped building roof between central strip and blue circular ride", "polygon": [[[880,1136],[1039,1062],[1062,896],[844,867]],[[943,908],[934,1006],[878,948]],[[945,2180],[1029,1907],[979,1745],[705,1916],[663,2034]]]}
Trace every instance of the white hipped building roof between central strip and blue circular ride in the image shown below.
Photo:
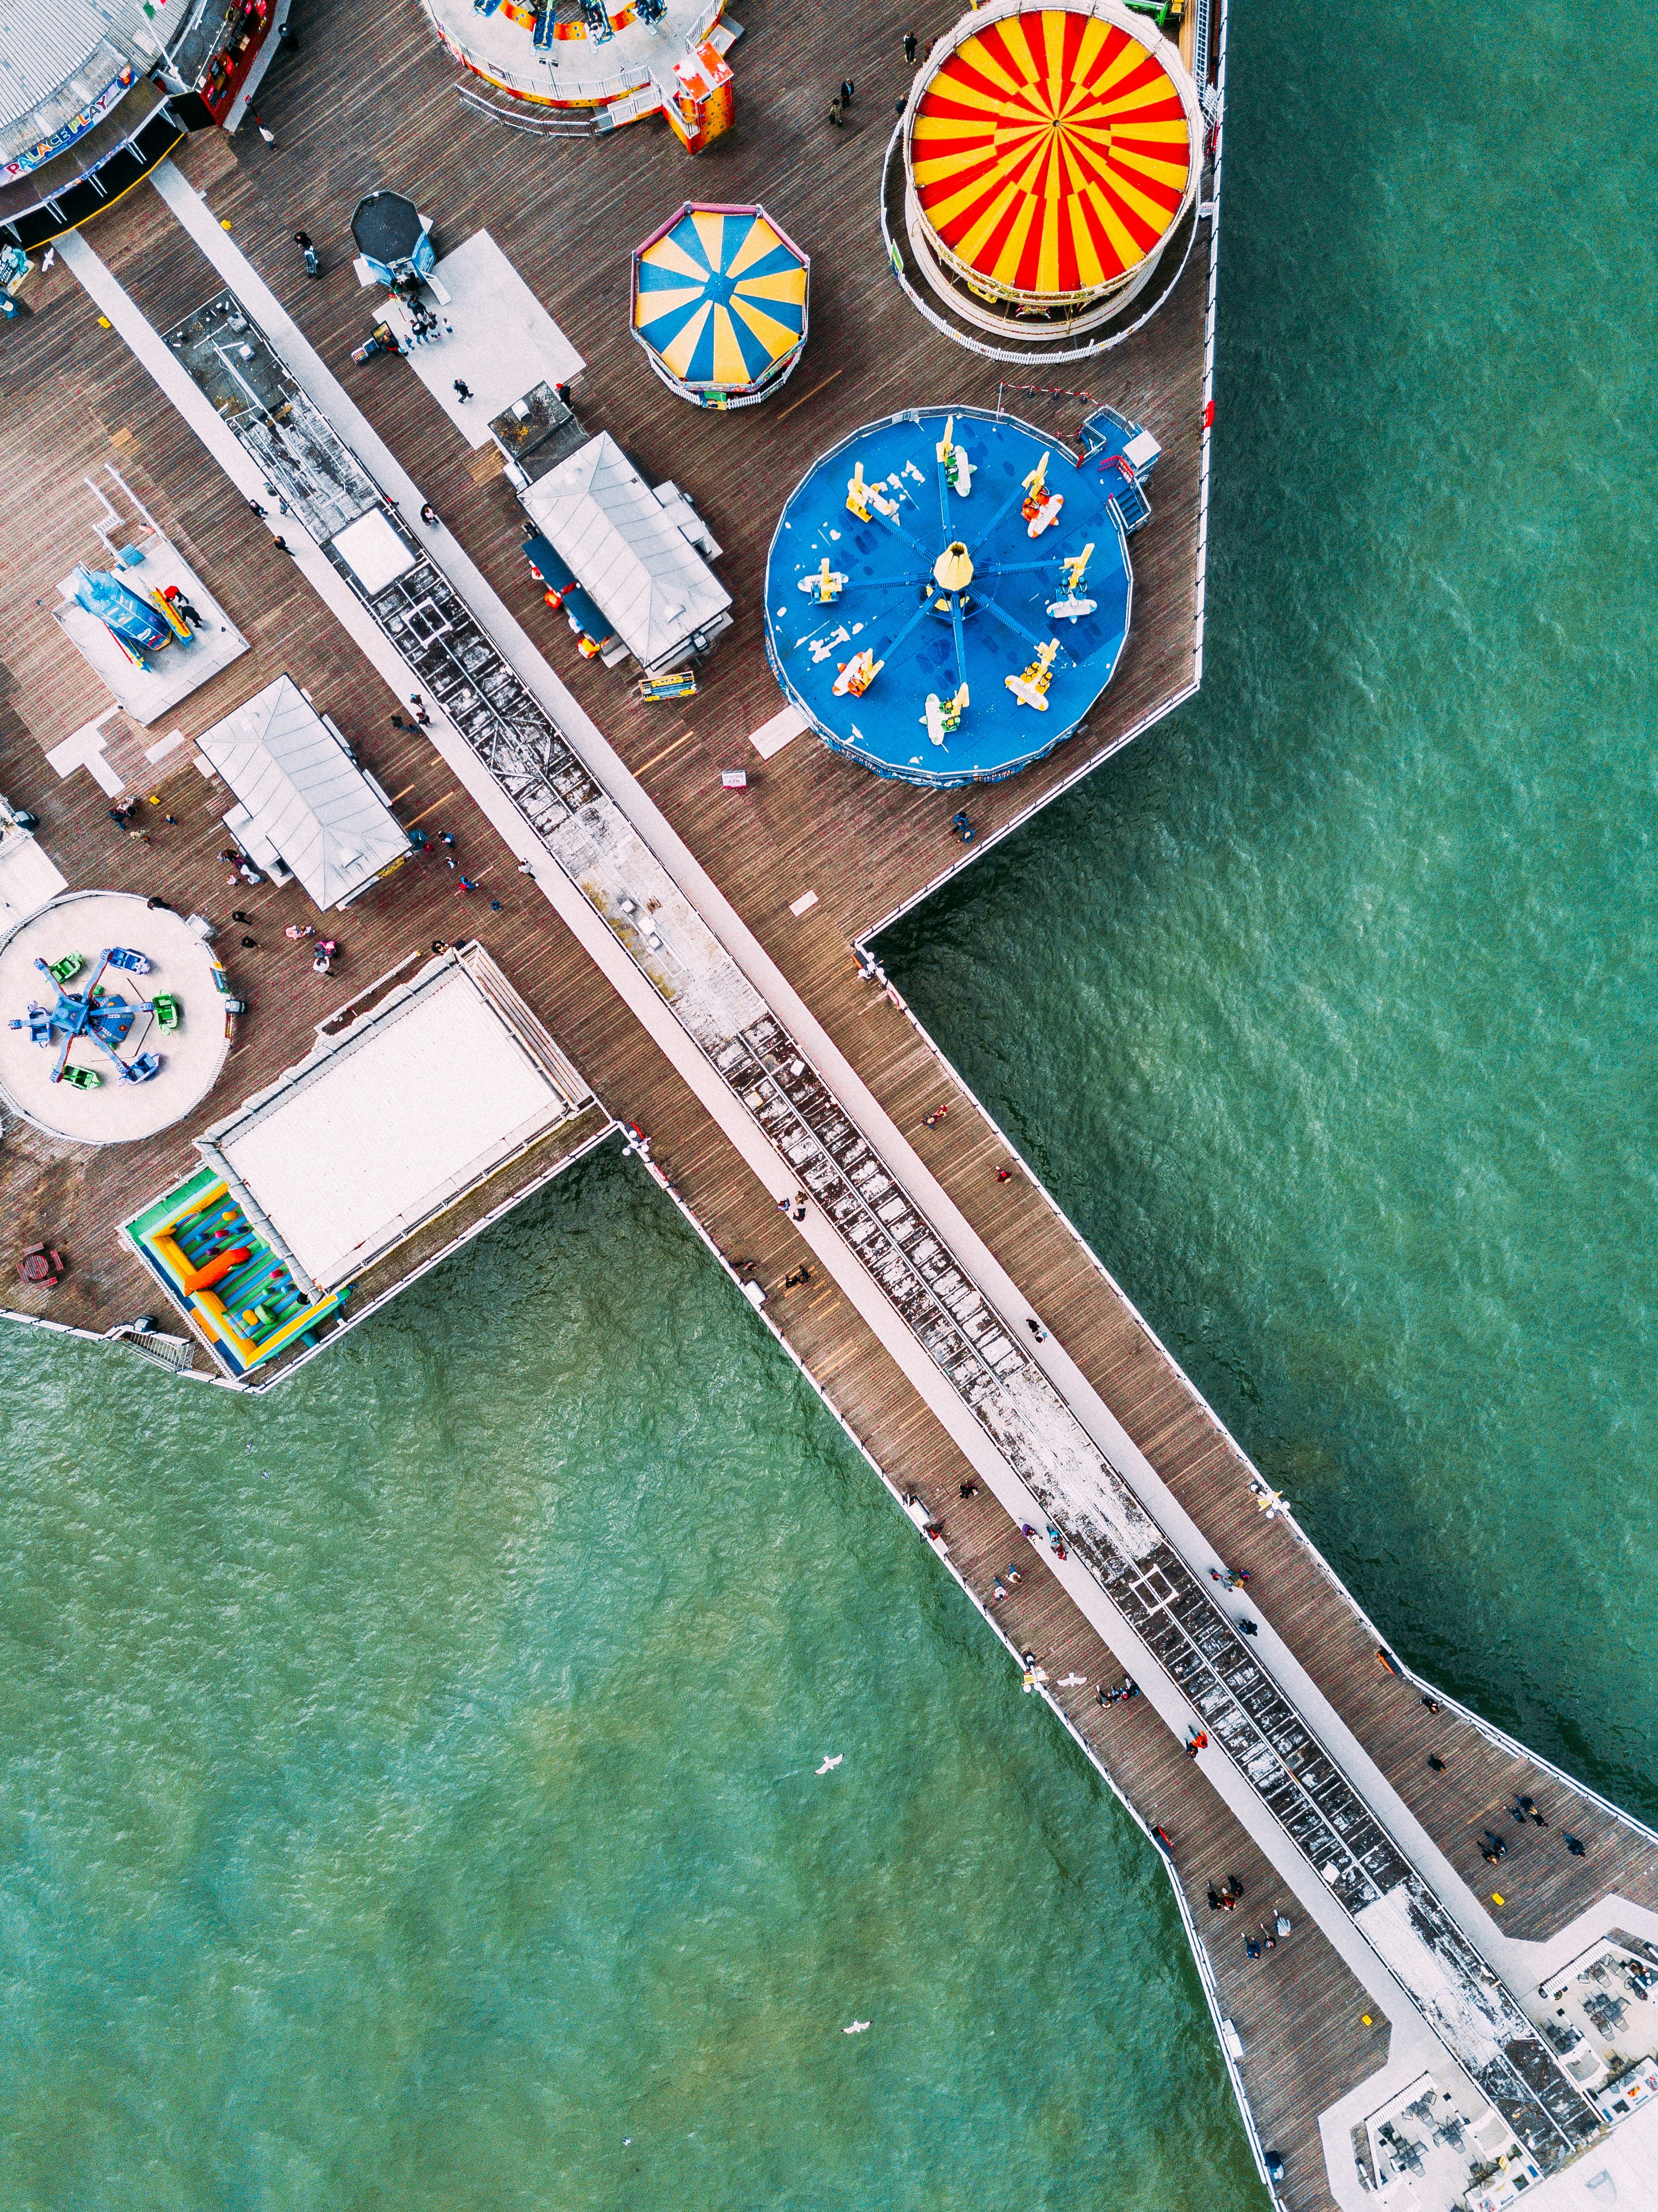
{"label": "white hipped building roof between central strip and blue circular ride", "polygon": [[520,500],[646,668],[671,659],[730,606],[730,593],[609,431],[560,460]]}

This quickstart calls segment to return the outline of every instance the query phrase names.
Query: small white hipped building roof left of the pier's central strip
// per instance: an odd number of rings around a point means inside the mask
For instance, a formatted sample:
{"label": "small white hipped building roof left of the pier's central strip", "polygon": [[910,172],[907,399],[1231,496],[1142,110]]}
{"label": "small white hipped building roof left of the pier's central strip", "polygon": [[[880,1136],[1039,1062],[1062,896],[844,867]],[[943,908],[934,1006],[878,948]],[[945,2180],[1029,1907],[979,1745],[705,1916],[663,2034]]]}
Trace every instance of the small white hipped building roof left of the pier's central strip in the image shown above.
{"label": "small white hipped building roof left of the pier's central strip", "polygon": [[243,845],[272,845],[319,907],[339,907],[407,854],[392,810],[290,677],[197,745],[246,807]]}

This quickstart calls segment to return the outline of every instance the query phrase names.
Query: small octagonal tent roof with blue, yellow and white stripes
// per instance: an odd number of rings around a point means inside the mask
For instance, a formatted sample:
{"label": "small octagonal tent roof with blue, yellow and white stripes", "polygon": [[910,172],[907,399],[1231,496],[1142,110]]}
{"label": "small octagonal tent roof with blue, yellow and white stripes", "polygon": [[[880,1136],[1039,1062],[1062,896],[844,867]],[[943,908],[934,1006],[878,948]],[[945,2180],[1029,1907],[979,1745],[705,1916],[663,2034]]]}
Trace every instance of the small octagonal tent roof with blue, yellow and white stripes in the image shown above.
{"label": "small octagonal tent roof with blue, yellow and white stripes", "polygon": [[680,383],[753,389],[806,338],[806,270],[764,208],[684,206],[633,257],[633,330]]}

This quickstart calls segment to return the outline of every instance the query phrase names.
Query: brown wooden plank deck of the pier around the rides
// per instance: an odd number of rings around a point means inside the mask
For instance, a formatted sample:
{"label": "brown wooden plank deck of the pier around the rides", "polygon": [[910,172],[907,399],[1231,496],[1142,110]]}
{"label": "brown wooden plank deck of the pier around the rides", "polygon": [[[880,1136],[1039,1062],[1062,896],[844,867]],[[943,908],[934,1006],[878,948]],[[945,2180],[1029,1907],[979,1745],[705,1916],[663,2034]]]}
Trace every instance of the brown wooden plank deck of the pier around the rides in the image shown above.
{"label": "brown wooden plank deck of the pier around the rides", "polygon": [[[739,128],[695,170],[664,126],[611,139],[542,144],[505,133],[454,97],[454,69],[434,49],[414,0],[390,13],[350,13],[321,0],[301,18],[303,46],[261,88],[277,148],[257,137],[195,142],[184,159],[317,349],[334,365],[381,436],[412,467],[514,613],[542,641],[622,759],[711,869],[722,891],[810,1002],[881,1106],[910,1133],[950,1197],[1020,1283],[1032,1310],[1078,1360],[1133,1440],[1206,1531],[1220,1557],[1253,1573],[1251,1601],[1284,1635],[1417,1818],[1490,1893],[1479,1832],[1512,1803],[1536,1796],[1547,1832],[1521,1838],[1505,1867],[1499,1920],[1541,1940],[1609,1889],[1658,1909],[1658,1854],[1581,1792],[1512,1752],[1454,1712],[1428,1712],[1421,1692],[1375,1657],[1361,1619],[1317,1555],[1284,1520],[1264,1520],[1248,1467],[1184,1376],[1144,1332],[1127,1298],[1023,1175],[998,1183],[1005,1146],[954,1082],[928,1040],[850,956],[883,916],[921,894],[958,858],[947,834],[958,794],[881,783],[795,739],[761,763],[748,732],[777,708],[764,664],[759,571],[775,513],[815,451],[872,416],[916,400],[996,403],[996,369],[932,332],[890,281],[874,219],[892,102],[908,71],[888,11],[852,0],[835,11],[750,11],[735,49]],[[952,20],[928,4],[921,38]],[[859,80],[850,128],[821,122],[841,75]],[[578,661],[562,622],[547,615],[516,551],[518,509],[487,458],[456,438],[414,376],[394,361],[348,365],[363,336],[365,299],[350,268],[343,226],[352,201],[376,184],[414,192],[438,217],[445,243],[494,230],[520,272],[589,361],[578,394],[593,429],[611,429],[655,478],[675,476],[726,546],[719,564],[737,599],[704,688],[686,710],[646,708],[624,681]],[[788,394],[735,416],[697,414],[651,376],[626,336],[626,252],[688,192],[764,199],[815,254],[812,336]],[[308,283],[290,232],[303,223],[330,274]],[[148,190],[135,192],[91,234],[144,312],[166,327],[219,283]],[[1175,294],[1131,345],[1063,372],[1144,418],[1164,442],[1153,478],[1153,522],[1133,540],[1136,630],[1091,728],[1023,776],[974,792],[981,847],[1005,823],[1060,790],[1144,726],[1193,681],[1198,582],[1198,467],[1202,429],[1202,321],[1206,234]],[[1171,1838],[1171,1869],[1193,1911],[1220,2011],[1242,2039],[1244,2090],[1262,2141],[1286,2161],[1282,2201],[1324,2208],[1317,2115],[1375,2073],[1388,2022],[1326,1938],[1299,1922],[1279,1949],[1248,1962],[1244,1931],[1279,1902],[1273,1874],[1209,1783],[1158,1725],[1144,1701],[1100,1708],[1091,1683],[1122,1672],[1076,1613],[1043,1559],[983,1491],[961,1498],[967,1464],[890,1352],[826,1283],[788,1294],[781,1279],[806,1245],[742,1164],[728,1139],[622,1006],[545,900],[514,874],[511,856],[425,739],[390,726],[385,686],[323,613],[208,465],[195,440],[97,321],[66,272],[35,279],[35,314],[7,332],[0,354],[0,453],[11,500],[0,520],[0,622],[13,639],[0,672],[0,787],[42,816],[42,843],[71,883],[159,891],[221,925],[237,987],[250,1002],[224,1077],[193,1126],[268,1084],[310,1044],[312,1024],[352,991],[436,938],[476,936],[536,1013],[560,1037],[602,1106],[653,1135],[657,1164],[730,1261],[748,1261],[770,1287],[768,1318],[786,1336],[826,1400],[899,1489],[945,1524],[950,1564],[985,1599],[996,1571],[1020,1559],[1023,1582],[994,1610],[1014,1648],[1034,1648],[1054,1681],[1080,1672],[1089,1688],[1056,1692],[1069,1723],[1147,1825]],[[1023,369],[1009,369],[1023,376]],[[1080,407],[1036,420],[1074,427]],[[463,896],[441,858],[412,860],[354,905],[339,925],[343,962],[314,982],[281,927],[308,916],[297,887],[235,891],[213,854],[228,803],[193,768],[190,745],[159,765],[144,757],[164,730],[111,726],[108,757],[128,790],[157,792],[139,807],[153,843],[128,841],[86,774],[58,781],[44,750],[102,712],[106,699],[64,653],[38,611],[55,580],[84,557],[80,478],[115,462],[182,544],[252,639],[252,653],[186,701],[173,719],[195,737],[239,699],[288,670],[328,708],[403,821],[460,836],[463,867],[480,885]],[[746,768],[748,792],[719,787],[722,768]],[[164,823],[162,816],[177,816]],[[804,918],[790,905],[804,891]],[[489,898],[502,911],[489,909]],[[252,916],[252,949],[228,909]],[[923,1115],[941,1097],[952,1113],[936,1130]],[[13,1285],[18,1307],[102,1329],[151,1310],[155,1292],[115,1248],[113,1225],[188,1168],[190,1128],[144,1146],[86,1155],[35,1133],[7,1133],[0,1203],[18,1241],[64,1243],[71,1274],[46,1294]],[[480,1201],[483,1203],[483,1201]],[[206,1365],[206,1360],[204,1360]],[[1428,1767],[1428,1754],[1445,1761]],[[1585,1838],[1585,1858],[1561,1847],[1561,1829]],[[1211,1880],[1240,1876],[1237,1916],[1209,1913]],[[1479,1876],[1479,1878],[1476,1878]],[[1370,2013],[1370,2024],[1364,2015]]]}

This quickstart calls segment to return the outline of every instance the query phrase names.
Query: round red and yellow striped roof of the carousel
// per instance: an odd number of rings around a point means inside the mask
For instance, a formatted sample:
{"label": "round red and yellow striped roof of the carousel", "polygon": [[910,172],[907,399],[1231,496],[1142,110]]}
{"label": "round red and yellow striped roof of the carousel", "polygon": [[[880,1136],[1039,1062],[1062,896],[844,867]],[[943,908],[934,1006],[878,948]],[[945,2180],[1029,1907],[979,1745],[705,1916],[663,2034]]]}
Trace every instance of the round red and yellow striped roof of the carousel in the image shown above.
{"label": "round red and yellow striped roof of the carousel", "polygon": [[921,212],[972,276],[1078,294],[1158,246],[1193,146],[1156,55],[1113,22],[1045,7],[945,55],[916,106],[910,159]]}

